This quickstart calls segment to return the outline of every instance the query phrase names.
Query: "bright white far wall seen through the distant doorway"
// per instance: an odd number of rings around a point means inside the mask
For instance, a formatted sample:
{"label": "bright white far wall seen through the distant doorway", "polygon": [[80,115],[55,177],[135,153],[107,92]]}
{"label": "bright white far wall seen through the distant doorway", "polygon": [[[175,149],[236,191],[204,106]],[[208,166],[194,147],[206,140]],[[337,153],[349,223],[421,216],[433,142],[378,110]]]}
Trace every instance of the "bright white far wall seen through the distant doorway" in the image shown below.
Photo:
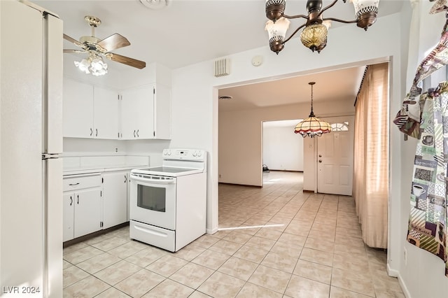
{"label": "bright white far wall seen through the distant doorway", "polygon": [[263,164],[269,169],[303,171],[303,137],[294,133],[294,127],[270,127],[263,123]]}

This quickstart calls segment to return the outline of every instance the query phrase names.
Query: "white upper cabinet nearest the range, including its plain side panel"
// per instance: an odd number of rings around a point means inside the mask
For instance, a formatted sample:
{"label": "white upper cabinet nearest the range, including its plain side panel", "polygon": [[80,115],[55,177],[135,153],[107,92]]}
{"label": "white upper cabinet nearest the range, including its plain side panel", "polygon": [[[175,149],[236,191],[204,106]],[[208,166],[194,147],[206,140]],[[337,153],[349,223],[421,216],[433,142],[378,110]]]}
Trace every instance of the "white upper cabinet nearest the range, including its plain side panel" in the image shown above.
{"label": "white upper cabinet nearest the range, including its plain side panel", "polygon": [[120,139],[171,139],[171,90],[151,84],[123,90]]}

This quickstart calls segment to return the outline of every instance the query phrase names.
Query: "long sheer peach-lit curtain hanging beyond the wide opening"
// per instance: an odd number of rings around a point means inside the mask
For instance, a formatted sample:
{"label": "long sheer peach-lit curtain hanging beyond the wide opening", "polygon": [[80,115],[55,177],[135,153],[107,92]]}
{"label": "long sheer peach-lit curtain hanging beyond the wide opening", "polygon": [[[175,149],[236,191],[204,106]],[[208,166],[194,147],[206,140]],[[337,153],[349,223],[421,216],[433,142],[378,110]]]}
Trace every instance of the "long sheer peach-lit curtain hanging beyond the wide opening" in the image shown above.
{"label": "long sheer peach-lit curtain hanging beyond the wide opening", "polygon": [[355,106],[353,196],[367,246],[387,248],[388,63],[367,68]]}

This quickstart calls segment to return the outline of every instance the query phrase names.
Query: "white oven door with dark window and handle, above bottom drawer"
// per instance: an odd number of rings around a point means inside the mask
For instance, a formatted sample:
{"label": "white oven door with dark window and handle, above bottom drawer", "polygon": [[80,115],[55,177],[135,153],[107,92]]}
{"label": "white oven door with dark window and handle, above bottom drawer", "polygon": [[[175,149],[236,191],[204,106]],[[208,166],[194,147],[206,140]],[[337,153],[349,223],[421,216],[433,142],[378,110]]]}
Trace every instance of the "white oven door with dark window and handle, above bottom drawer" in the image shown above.
{"label": "white oven door with dark window and handle, above bottom drawer", "polygon": [[176,229],[176,178],[131,173],[130,219]]}

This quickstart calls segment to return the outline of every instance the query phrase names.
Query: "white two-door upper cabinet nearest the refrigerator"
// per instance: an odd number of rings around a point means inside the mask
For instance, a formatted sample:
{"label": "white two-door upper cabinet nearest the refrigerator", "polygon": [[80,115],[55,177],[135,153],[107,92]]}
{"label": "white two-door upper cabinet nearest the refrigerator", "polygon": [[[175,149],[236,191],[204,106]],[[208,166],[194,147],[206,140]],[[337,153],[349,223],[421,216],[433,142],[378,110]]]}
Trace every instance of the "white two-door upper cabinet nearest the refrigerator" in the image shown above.
{"label": "white two-door upper cabinet nearest the refrigerator", "polygon": [[64,78],[64,137],[118,139],[118,93]]}

